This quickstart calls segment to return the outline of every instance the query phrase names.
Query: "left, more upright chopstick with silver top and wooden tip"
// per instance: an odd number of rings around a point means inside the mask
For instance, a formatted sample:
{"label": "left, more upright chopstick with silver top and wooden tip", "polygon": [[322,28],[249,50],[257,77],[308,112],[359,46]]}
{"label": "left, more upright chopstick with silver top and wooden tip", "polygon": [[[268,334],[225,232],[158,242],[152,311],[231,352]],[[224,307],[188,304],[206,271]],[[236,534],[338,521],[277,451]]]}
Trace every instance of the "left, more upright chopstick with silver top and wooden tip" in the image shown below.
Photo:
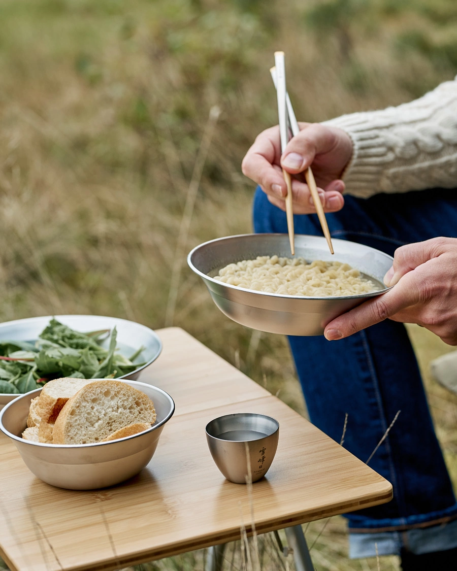
{"label": "left, more upright chopstick with silver top and wooden tip", "polygon": [[[288,140],[288,119],[287,119],[287,104],[286,104],[286,67],[284,65],[284,52],[275,51],[275,67],[276,67],[276,97],[278,99],[278,116],[279,116],[279,133],[281,139],[281,152],[284,152]],[[290,251],[292,256],[295,255],[295,236],[294,236],[294,212],[292,210],[292,182],[290,174],[282,170],[284,180],[287,185],[286,196],[286,217],[287,217],[287,230],[289,234]]]}

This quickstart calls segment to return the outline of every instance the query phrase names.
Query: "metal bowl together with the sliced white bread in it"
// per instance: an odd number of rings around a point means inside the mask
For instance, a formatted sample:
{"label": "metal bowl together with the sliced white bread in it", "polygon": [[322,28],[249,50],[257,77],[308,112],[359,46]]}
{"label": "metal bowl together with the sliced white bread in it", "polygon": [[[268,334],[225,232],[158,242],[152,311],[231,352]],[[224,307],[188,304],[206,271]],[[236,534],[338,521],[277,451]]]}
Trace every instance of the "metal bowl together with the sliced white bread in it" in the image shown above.
{"label": "metal bowl together with the sliced white bread in it", "polygon": [[7,404],[0,431],[47,484],[105,488],[149,464],[174,408],[165,391],[138,381],[54,379]]}

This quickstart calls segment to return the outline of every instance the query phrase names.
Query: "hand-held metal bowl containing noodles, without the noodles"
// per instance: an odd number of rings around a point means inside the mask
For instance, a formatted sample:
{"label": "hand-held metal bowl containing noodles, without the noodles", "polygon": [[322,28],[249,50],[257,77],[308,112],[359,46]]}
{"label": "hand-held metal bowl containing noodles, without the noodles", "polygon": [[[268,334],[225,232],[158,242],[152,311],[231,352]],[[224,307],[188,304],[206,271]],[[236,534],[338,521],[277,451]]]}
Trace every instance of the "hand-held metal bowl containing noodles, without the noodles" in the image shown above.
{"label": "hand-held metal bowl containing noodles, without the noodles", "polygon": [[388,288],[383,284],[393,258],[384,252],[347,240],[332,239],[335,255],[325,238],[296,235],[295,256],[312,260],[337,260],[357,268],[379,283],[379,291],[344,297],[304,297],[242,289],[215,280],[213,276],[230,263],[274,254],[291,258],[286,234],[244,234],[205,242],[194,248],[187,263],[209,289],[214,303],[227,317],[269,333],[322,335],[326,324],[369,297]]}

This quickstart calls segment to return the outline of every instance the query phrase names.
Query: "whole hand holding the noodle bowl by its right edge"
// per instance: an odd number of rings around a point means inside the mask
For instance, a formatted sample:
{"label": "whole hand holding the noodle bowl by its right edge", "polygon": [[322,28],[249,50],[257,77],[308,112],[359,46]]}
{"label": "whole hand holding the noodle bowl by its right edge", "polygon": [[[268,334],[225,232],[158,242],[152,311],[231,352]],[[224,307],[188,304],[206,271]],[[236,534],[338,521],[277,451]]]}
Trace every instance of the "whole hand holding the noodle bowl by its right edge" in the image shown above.
{"label": "whole hand holding the noodle bowl by its right edge", "polygon": [[324,331],[327,339],[342,339],[389,318],[418,323],[444,343],[457,345],[456,238],[398,248],[384,283],[395,287],[330,321]]}

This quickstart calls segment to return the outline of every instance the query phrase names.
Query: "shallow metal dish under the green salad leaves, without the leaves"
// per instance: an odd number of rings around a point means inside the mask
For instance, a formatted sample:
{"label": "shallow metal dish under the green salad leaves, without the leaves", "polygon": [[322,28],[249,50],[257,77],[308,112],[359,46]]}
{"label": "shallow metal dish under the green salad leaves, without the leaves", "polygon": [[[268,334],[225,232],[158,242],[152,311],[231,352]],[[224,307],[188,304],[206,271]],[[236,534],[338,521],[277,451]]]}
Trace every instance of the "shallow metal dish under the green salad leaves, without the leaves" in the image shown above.
{"label": "shallow metal dish under the green salad leaves, without the leaves", "polygon": [[[157,333],[155,333],[146,325],[128,321],[127,319],[119,319],[118,317],[104,317],[102,315],[47,315],[43,317],[30,317],[28,319],[18,319],[15,321],[6,321],[0,323],[0,340],[9,339],[11,341],[35,341],[39,333],[43,331],[50,319],[55,317],[61,323],[68,325],[76,331],[89,332],[98,331],[99,329],[117,329],[117,345],[122,355],[129,357],[141,346],[145,349],[135,359],[137,363],[143,363],[142,367],[138,367],[129,375],[118,377],[119,379],[138,379],[141,371],[148,367],[162,351],[162,341]],[[102,347],[108,348],[109,340],[106,339]],[[0,393],[0,409],[18,395],[10,395]]]}

